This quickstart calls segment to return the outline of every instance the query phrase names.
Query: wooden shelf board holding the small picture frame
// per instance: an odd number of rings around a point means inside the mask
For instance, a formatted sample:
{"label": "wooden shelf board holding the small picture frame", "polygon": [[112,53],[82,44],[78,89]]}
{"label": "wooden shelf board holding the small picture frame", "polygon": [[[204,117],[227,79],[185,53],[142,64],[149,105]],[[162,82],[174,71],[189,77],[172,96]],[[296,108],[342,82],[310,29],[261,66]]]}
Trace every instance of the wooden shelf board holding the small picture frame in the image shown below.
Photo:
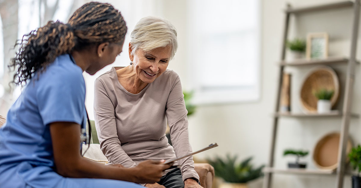
{"label": "wooden shelf board holding the small picture frame", "polygon": [[[349,59],[344,57],[330,57],[326,59],[318,60],[294,60],[294,61],[281,61],[279,64],[281,66],[303,66],[303,65],[324,65],[324,64],[334,64],[334,63],[348,63]],[[356,62],[359,64],[359,62]]]}

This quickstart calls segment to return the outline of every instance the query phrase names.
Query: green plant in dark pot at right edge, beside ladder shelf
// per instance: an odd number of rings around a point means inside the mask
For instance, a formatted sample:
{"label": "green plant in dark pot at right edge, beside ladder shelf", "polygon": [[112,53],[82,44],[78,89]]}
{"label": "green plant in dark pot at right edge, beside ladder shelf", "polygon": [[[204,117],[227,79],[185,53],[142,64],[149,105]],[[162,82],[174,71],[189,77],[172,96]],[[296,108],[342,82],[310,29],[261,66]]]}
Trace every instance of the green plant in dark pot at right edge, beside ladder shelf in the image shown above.
{"label": "green plant in dark pot at right edge, beside ladder shelf", "polygon": [[352,188],[361,188],[361,146],[353,147],[348,157],[353,170],[357,170],[357,175],[352,176]]}

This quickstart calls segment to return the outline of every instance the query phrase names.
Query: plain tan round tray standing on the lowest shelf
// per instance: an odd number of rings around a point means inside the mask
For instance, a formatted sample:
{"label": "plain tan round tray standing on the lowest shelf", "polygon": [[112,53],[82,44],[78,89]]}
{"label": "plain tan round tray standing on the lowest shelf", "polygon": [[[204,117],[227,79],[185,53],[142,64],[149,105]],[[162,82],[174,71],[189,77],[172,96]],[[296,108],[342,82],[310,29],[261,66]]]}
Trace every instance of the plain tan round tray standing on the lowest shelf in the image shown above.
{"label": "plain tan round tray standing on the lowest shelf", "polygon": [[[323,136],[313,150],[313,162],[319,169],[335,170],[338,166],[340,133],[332,132]],[[351,140],[347,141],[346,153],[351,151]]]}

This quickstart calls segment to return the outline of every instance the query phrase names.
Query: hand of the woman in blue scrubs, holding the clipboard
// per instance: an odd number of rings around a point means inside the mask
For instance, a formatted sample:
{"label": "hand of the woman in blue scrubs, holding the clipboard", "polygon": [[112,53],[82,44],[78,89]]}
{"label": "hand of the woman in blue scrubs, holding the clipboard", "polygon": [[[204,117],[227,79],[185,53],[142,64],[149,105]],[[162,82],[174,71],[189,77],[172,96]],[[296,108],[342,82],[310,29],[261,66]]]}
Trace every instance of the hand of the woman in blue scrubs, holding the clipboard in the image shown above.
{"label": "hand of the woman in blue scrubs, holding the clipboard", "polygon": [[135,170],[136,183],[155,183],[159,182],[163,176],[163,171],[168,169],[172,164],[164,165],[164,160],[153,161],[146,160],[132,168]]}

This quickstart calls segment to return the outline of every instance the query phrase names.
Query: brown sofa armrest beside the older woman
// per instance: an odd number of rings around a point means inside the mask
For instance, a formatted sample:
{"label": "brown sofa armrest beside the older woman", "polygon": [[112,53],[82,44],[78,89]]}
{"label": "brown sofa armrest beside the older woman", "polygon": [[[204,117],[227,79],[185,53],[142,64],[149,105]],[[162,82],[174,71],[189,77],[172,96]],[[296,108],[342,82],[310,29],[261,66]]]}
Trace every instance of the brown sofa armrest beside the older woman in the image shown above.
{"label": "brown sofa armrest beside the older woman", "polygon": [[199,182],[204,188],[211,188],[214,178],[214,168],[208,163],[194,163],[194,169],[199,175]]}

